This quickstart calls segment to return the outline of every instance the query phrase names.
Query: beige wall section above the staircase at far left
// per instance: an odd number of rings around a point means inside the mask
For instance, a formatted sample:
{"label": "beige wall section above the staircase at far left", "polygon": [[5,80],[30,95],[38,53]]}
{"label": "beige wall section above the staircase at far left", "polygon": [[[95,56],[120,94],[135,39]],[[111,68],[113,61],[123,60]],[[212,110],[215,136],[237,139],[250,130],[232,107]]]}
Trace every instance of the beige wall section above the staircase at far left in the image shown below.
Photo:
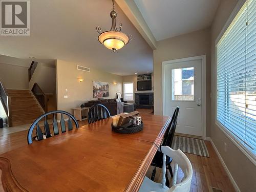
{"label": "beige wall section above the staircase at far left", "polygon": [[0,62],[0,80],[6,89],[28,89],[28,68]]}

